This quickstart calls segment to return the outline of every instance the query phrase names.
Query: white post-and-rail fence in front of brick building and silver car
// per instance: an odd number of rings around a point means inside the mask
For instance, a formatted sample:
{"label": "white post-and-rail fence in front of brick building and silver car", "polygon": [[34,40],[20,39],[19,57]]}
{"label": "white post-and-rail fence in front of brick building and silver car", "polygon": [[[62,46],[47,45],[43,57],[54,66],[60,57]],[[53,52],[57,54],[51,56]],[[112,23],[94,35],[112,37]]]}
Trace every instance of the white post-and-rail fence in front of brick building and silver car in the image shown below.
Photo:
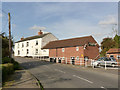
{"label": "white post-and-rail fence in front of brick building and silver car", "polygon": [[[72,64],[72,65],[79,65],[84,67],[99,67],[99,68],[105,68],[105,69],[118,69],[118,64],[112,65],[112,62],[104,61],[101,65],[95,65],[94,62],[96,60],[93,59],[84,59],[84,58],[51,58],[50,62],[56,62],[56,63],[62,63],[62,64]],[[109,67],[111,66],[112,67]],[[117,68],[116,68],[117,67]]]}

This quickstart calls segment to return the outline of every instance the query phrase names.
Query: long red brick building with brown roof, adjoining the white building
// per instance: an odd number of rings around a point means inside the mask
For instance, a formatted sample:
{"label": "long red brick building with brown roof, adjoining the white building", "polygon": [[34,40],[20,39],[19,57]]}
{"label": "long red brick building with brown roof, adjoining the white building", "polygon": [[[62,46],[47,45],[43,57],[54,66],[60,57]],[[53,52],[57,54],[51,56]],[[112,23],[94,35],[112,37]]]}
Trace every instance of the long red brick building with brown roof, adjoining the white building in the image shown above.
{"label": "long red brick building with brown roof, adjoining the white building", "polygon": [[43,49],[49,49],[50,59],[56,62],[77,64],[80,58],[96,59],[99,55],[99,45],[92,36],[57,40],[49,42]]}

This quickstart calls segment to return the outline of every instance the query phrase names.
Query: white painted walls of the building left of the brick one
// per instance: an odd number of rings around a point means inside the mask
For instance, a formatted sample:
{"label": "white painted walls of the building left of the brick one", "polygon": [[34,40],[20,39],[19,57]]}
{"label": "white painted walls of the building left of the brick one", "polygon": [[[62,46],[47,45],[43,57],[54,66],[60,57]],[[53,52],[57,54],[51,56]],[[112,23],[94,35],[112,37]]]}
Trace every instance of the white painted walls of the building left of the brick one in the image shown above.
{"label": "white painted walls of the building left of the brick one", "polygon": [[[37,40],[38,40],[38,45],[36,45]],[[50,33],[50,34],[44,36],[43,38],[37,38],[37,39],[32,39],[32,40],[15,43],[14,55],[21,56],[21,57],[24,57],[24,56],[32,56],[32,57],[49,56],[49,50],[48,49],[41,50],[41,48],[43,46],[45,46],[47,43],[49,43],[50,41],[54,41],[54,40],[57,40],[57,38]],[[27,42],[29,42],[28,47],[26,47]],[[22,47],[22,43],[24,44],[24,47]],[[19,44],[19,48],[18,48],[18,44]],[[27,49],[29,49],[29,54],[27,54]],[[38,49],[38,54],[36,54],[36,49]],[[20,51],[19,55],[18,55],[18,50]]]}

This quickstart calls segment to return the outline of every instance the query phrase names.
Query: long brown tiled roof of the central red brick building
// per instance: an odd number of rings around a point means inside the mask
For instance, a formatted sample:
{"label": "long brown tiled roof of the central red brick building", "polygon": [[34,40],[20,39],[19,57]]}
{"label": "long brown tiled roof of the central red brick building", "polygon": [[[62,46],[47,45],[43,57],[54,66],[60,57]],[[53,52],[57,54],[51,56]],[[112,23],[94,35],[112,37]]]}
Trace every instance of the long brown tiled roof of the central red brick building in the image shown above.
{"label": "long brown tiled roof of the central red brick building", "polygon": [[43,49],[83,46],[85,44],[88,44],[89,42],[90,43],[97,43],[92,36],[86,36],[86,37],[51,41],[46,46],[44,46]]}

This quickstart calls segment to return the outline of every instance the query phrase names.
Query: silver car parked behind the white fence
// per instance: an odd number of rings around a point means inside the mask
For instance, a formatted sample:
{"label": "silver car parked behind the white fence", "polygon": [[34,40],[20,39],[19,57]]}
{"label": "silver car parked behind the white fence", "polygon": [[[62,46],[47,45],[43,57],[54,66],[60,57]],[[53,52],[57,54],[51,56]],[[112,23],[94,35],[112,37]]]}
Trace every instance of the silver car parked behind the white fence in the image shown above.
{"label": "silver car parked behind the white fence", "polygon": [[117,65],[117,62],[114,58],[107,58],[107,57],[102,57],[99,58],[97,61],[93,62],[93,65],[96,66],[112,66],[115,67]]}

